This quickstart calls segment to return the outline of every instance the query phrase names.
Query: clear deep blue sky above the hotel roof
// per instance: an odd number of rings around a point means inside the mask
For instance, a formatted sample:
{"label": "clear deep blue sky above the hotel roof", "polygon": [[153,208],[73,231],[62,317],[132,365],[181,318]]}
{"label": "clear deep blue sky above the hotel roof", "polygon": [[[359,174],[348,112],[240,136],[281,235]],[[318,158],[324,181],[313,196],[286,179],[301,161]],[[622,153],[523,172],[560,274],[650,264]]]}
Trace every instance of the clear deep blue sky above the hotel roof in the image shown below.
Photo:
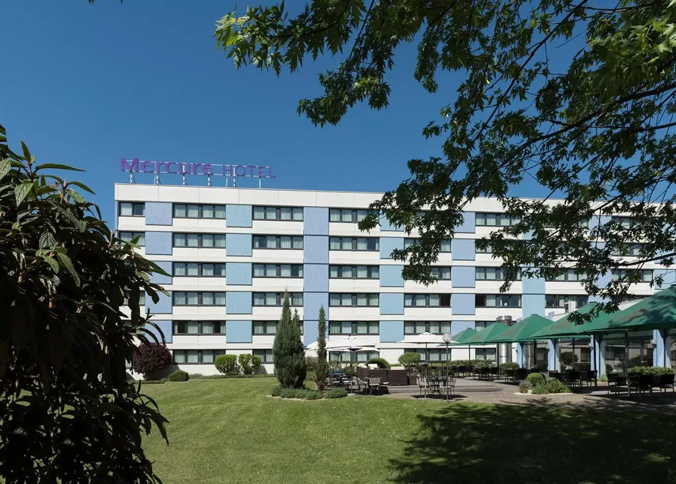
{"label": "clear deep blue sky above the hotel roof", "polygon": [[[107,220],[113,183],[128,180],[121,157],[270,165],[277,178],[266,187],[385,191],[408,176],[410,158],[439,154],[441,140],[420,132],[452,99],[454,74],[440,75],[446,91],[426,93],[407,46],[389,78],[387,110],[359,106],[339,126],[316,128],[296,114],[297,101],[319,95],[318,72],[339,59],[308,62],[281,78],[235,70],[213,38],[216,20],[233,5],[5,2],[11,22],[0,51],[0,122],[11,147],[23,140],[39,162],[85,168],[76,178],[97,192]],[[144,180],[152,178],[137,177]]]}

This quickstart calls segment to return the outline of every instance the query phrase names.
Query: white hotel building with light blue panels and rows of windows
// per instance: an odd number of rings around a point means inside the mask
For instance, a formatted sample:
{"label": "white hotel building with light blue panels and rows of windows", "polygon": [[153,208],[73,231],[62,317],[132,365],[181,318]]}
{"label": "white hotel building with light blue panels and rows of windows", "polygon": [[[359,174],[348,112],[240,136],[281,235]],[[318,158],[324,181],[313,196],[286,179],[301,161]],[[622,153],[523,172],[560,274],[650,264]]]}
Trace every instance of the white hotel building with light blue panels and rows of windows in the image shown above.
{"label": "white hotel building with light blue panels and rows of windows", "polygon": [[[511,223],[496,199],[468,203],[455,238],[441,243],[438,283],[426,287],[404,281],[402,263],[391,252],[406,247],[416,234],[387,221],[370,233],[357,226],[380,196],[116,184],[116,230],[122,239],[141,235],[141,252],[170,274],[152,278],[168,295],[160,295],[157,304],[149,297],[142,301],[162,329],[175,364],[194,373],[216,372],[214,358],[224,353],[256,354],[272,371],[284,291],[302,320],[306,345],[316,341],[323,306],[330,340],[359,335],[379,350],[331,353],[331,359],[366,362],[380,356],[391,363],[404,350],[418,351],[429,361],[445,359],[441,347],[397,343],[423,331],[455,335],[502,316],[514,322],[530,314],[556,318],[590,300],[573,270],[556,281],[516,281],[508,293],[500,293],[500,260],[475,247],[475,239]],[[643,271],[645,282],[631,289],[637,297],[654,293],[650,281],[656,271],[666,272],[656,264],[646,264]],[[661,347],[675,360],[671,341],[676,338],[657,333],[637,339],[631,356],[664,358],[658,355]],[[537,359],[549,359],[551,365],[553,347],[551,341],[539,345]],[[512,360],[521,361],[526,351],[513,345]],[[617,359],[612,344],[602,351],[606,364]],[[576,354],[584,362],[589,345],[578,343]],[[452,358],[494,359],[496,347],[454,348]]]}

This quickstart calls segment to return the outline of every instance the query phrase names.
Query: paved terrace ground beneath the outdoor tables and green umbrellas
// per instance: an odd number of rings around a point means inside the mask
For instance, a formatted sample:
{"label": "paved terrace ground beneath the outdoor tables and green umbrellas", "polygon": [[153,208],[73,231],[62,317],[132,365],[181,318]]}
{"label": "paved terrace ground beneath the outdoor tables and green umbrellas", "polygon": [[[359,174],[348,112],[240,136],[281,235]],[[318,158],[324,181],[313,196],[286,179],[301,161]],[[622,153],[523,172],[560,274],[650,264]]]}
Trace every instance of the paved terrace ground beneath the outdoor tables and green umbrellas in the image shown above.
{"label": "paved terrace ground beneath the outdoor tables and green umbrellas", "polygon": [[[502,404],[502,405],[545,405],[561,406],[568,408],[590,408],[596,410],[619,410],[619,411],[640,411],[640,412],[662,412],[676,414],[676,393],[667,391],[666,393],[654,392],[652,397],[641,396],[631,398],[626,395],[615,397],[612,393],[608,395],[605,387],[592,391],[592,389],[582,389],[574,393],[558,393],[553,395],[521,395],[518,393],[518,386],[513,383],[498,382],[476,382],[481,385],[488,384],[491,389],[488,391],[477,391],[479,385],[470,383],[475,382],[470,379],[458,379],[456,391],[452,402],[470,402],[481,404]],[[406,387],[412,388],[412,387]],[[472,390],[473,388],[476,388]],[[415,391],[392,392],[389,395],[383,395],[385,398],[419,398],[418,389]],[[431,399],[430,399],[431,400]],[[435,400],[439,400],[438,397]]]}

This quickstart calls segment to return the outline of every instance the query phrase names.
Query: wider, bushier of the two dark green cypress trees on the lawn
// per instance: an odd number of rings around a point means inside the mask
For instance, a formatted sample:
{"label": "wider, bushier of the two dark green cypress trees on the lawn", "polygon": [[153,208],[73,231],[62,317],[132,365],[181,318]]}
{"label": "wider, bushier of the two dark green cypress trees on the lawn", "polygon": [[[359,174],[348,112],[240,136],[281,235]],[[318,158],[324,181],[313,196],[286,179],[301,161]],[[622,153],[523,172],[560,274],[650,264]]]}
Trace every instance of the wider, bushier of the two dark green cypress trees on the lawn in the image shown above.
{"label": "wider, bushier of the two dark green cypress trees on the lawn", "polygon": [[305,348],[298,312],[295,311],[292,317],[289,306],[289,293],[285,292],[282,316],[272,343],[274,374],[282,387],[300,388],[306,377]]}

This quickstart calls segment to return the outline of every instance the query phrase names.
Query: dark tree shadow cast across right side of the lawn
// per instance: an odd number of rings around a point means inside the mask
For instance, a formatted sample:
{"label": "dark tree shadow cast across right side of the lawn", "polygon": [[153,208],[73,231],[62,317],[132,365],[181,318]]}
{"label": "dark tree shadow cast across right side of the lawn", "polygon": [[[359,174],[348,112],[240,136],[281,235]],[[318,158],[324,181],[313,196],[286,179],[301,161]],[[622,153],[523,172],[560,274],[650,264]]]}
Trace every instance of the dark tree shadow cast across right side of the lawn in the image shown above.
{"label": "dark tree shadow cast across right side of the lawn", "polygon": [[418,419],[395,483],[676,482],[673,416],[452,404]]}

